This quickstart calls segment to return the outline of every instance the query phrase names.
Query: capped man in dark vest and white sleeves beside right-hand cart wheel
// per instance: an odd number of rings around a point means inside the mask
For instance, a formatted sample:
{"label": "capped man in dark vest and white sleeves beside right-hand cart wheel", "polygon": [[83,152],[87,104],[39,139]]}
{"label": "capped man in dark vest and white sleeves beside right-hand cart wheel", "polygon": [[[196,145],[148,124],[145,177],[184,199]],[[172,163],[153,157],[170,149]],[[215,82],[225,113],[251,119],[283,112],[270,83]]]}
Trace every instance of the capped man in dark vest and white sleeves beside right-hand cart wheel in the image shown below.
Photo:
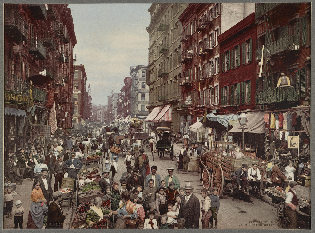
{"label": "capped man in dark vest and white sleeves beside right-hand cart wheel", "polygon": [[297,225],[297,213],[299,211],[299,201],[296,197],[296,189],[297,189],[297,182],[291,181],[290,182],[290,189],[287,192],[287,198],[285,199],[285,203],[287,204],[287,208],[285,213],[289,217],[289,229],[295,229]]}

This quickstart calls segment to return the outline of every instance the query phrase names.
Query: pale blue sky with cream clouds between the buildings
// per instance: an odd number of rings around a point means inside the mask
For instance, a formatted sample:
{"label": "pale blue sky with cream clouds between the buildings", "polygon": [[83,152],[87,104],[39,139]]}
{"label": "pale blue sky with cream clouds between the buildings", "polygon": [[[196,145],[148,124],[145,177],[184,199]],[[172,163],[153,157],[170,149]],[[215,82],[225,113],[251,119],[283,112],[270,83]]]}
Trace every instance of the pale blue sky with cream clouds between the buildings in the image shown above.
{"label": "pale blue sky with cream clouds between the buildings", "polygon": [[130,66],[148,65],[151,4],[69,4],[77,44],[76,65],[84,65],[92,104],[107,105],[120,93]]}

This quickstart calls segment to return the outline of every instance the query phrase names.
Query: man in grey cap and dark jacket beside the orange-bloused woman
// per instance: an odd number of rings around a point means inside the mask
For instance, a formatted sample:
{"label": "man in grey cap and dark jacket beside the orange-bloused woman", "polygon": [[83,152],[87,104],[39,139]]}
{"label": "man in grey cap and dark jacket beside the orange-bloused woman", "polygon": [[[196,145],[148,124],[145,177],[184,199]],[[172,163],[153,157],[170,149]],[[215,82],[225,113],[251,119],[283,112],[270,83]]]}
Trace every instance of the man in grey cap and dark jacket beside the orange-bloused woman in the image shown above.
{"label": "man in grey cap and dark jacket beside the orange-bloused woman", "polygon": [[55,191],[53,193],[53,202],[51,202],[48,207],[48,216],[45,229],[63,229],[63,221],[65,221],[68,213],[63,213],[59,205],[61,199],[62,192]]}

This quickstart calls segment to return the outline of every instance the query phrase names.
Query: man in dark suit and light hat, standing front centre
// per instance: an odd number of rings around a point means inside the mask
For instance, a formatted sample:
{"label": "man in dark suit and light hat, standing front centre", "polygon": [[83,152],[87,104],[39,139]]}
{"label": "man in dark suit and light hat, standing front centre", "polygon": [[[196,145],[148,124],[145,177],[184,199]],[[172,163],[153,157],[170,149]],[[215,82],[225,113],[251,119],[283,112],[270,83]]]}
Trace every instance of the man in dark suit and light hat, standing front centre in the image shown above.
{"label": "man in dark suit and light hat, standing front centre", "polygon": [[199,229],[200,218],[200,203],[198,198],[192,194],[194,187],[187,182],[184,186],[186,196],[182,197],[180,201],[180,208],[178,219],[184,218],[186,220],[186,229]]}

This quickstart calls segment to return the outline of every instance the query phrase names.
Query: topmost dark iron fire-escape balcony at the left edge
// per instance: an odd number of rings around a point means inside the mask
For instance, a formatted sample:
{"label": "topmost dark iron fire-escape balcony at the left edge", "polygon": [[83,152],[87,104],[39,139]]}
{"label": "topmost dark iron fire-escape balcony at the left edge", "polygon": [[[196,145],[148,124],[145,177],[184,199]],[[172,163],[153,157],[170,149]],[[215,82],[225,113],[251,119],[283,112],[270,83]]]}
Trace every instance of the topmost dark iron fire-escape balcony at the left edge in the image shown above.
{"label": "topmost dark iron fire-escape balcony at the left edge", "polygon": [[28,41],[28,25],[13,7],[4,8],[4,29],[14,41]]}

